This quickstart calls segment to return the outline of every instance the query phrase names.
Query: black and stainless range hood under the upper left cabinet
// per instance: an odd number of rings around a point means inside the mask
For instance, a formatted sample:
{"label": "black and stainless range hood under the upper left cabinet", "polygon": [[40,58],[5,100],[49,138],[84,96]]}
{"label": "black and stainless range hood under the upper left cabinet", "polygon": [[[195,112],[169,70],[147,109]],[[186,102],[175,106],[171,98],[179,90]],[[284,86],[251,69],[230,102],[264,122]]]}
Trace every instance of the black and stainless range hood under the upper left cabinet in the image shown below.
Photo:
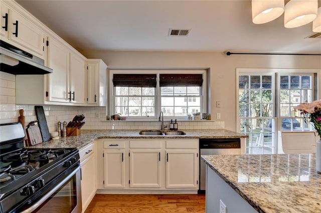
{"label": "black and stainless range hood under the upper left cabinet", "polygon": [[48,74],[53,70],[35,55],[0,40],[0,71],[10,74]]}

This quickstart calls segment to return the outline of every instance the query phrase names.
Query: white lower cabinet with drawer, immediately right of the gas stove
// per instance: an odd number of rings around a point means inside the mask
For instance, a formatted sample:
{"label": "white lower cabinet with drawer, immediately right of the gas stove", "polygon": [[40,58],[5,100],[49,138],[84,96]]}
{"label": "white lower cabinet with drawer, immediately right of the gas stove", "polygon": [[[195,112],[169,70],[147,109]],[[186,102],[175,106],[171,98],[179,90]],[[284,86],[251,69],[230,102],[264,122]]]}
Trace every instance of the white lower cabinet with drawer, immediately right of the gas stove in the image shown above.
{"label": "white lower cabinet with drawer, immediately right of the gas stove", "polygon": [[96,150],[95,142],[81,148],[80,155],[80,169],[81,169],[81,201],[82,212],[84,212],[96,194]]}

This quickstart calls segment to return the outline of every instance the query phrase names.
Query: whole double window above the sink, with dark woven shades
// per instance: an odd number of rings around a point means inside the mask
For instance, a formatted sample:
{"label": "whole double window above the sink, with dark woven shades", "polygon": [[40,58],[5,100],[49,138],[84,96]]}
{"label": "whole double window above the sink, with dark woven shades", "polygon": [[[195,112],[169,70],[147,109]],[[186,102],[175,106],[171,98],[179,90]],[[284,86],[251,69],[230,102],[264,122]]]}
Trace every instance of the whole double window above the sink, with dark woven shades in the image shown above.
{"label": "whole double window above the sink, with dark woven shades", "polygon": [[205,70],[130,72],[110,70],[110,114],[120,113],[129,119],[157,118],[162,110],[164,116],[187,119],[189,114],[207,111]]}

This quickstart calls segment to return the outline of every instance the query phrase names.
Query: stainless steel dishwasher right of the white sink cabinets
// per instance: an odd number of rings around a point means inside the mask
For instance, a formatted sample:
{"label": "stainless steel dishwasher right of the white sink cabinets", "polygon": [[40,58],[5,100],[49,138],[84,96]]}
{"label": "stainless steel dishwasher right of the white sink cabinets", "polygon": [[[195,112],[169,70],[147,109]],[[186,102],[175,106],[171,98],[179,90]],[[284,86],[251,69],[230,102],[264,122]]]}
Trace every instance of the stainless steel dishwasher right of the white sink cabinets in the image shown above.
{"label": "stainless steel dishwasher right of the white sink cabinets", "polygon": [[[200,138],[200,155],[241,154],[240,138]],[[200,158],[200,189],[206,189],[206,163]]]}

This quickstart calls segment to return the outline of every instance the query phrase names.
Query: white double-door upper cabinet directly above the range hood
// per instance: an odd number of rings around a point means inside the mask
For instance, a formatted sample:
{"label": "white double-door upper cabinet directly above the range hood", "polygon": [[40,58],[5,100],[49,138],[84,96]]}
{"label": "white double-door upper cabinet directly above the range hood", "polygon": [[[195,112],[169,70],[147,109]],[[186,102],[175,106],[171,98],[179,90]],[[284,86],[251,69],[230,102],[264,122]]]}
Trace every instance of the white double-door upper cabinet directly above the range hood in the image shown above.
{"label": "white double-door upper cabinet directly above the range hood", "polygon": [[44,32],[25,15],[1,2],[1,40],[45,59]]}

